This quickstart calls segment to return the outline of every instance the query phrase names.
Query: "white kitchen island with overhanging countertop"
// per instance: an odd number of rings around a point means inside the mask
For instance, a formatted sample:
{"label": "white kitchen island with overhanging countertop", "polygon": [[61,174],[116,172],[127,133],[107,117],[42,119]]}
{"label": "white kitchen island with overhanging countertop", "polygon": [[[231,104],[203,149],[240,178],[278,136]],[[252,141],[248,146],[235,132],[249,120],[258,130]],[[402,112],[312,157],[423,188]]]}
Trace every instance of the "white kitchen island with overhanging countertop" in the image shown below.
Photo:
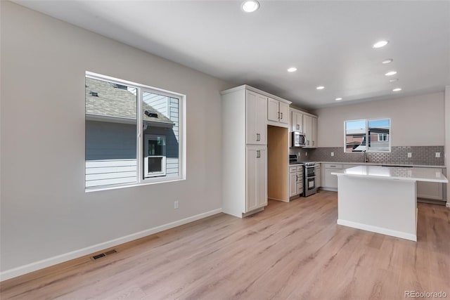
{"label": "white kitchen island with overhanging countertop", "polygon": [[358,166],[337,170],[338,224],[417,241],[416,182],[447,183],[440,172]]}

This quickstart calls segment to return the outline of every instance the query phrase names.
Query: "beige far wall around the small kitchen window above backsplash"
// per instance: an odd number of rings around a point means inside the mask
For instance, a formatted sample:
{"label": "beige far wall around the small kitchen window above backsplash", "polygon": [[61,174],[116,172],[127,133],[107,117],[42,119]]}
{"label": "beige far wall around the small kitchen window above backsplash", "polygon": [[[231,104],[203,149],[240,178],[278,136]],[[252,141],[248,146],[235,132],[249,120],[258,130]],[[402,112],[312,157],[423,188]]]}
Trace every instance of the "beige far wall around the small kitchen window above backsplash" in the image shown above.
{"label": "beige far wall around the small kitchen window above backsplash", "polygon": [[390,118],[392,146],[444,145],[444,93],[378,100],[315,110],[319,147],[343,147],[344,122]]}

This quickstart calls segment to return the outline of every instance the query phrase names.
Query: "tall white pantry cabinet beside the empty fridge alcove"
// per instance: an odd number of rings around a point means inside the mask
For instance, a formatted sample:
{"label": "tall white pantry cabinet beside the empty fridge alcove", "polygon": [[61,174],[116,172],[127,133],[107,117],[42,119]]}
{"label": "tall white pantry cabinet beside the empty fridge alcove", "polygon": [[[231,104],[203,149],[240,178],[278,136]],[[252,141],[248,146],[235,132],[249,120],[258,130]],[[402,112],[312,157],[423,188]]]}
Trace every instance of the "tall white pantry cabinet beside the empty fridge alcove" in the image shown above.
{"label": "tall white pantry cabinet beside the empty fridge alcove", "polygon": [[221,92],[222,209],[240,218],[267,205],[267,97],[255,90]]}

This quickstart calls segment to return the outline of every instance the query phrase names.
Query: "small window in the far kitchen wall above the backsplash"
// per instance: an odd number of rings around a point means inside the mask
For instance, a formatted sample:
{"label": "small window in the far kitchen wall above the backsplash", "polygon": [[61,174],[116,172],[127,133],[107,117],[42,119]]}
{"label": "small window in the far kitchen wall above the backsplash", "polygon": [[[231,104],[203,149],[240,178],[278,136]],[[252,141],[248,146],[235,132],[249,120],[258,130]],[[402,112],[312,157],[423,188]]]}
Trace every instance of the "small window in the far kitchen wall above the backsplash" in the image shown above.
{"label": "small window in the far kitchen wall above the backsplash", "polygon": [[390,119],[345,121],[344,152],[390,152]]}

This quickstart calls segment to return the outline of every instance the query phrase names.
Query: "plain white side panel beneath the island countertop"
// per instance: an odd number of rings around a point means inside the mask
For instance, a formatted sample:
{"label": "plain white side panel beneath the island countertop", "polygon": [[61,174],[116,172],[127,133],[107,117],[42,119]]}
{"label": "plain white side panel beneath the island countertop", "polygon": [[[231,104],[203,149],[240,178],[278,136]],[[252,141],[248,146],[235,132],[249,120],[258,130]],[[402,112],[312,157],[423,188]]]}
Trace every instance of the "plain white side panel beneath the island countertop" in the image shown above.
{"label": "plain white side panel beneath the island countertop", "polygon": [[416,181],[338,176],[338,224],[417,240]]}

